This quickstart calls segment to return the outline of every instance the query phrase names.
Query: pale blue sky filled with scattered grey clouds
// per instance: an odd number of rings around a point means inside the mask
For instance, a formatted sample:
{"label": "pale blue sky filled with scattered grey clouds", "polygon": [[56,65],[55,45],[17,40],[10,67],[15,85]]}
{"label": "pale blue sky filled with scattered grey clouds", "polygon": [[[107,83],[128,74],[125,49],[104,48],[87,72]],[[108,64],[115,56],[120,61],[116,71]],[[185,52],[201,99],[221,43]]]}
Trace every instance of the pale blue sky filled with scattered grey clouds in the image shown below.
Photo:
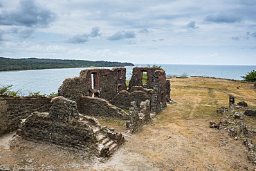
{"label": "pale blue sky filled with scattered grey clouds", "polygon": [[256,66],[256,1],[0,0],[0,57]]}

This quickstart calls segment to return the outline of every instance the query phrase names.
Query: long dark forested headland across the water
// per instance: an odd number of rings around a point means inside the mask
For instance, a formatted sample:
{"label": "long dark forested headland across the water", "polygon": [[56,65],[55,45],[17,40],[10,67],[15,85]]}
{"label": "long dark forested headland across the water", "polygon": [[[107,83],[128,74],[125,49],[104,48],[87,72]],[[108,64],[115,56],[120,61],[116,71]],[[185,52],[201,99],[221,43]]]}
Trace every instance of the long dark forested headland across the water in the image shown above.
{"label": "long dark forested headland across the water", "polygon": [[10,59],[0,57],[0,71],[10,70],[39,70],[53,68],[86,68],[86,67],[122,67],[134,66],[133,63],[109,61],[84,61],[67,59]]}

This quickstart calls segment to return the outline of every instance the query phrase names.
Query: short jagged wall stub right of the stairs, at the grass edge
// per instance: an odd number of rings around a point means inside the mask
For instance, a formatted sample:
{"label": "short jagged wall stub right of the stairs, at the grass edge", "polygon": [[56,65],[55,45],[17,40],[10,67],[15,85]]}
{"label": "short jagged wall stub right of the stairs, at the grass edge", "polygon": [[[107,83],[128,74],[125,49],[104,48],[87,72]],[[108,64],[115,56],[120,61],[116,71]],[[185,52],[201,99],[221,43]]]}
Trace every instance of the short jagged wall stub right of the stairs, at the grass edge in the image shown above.
{"label": "short jagged wall stub right of the stairs, at the grass edge", "polygon": [[129,121],[126,123],[126,128],[128,132],[134,133],[150,120],[150,101],[141,102],[139,108],[135,101],[132,101],[131,105],[132,107],[129,109]]}

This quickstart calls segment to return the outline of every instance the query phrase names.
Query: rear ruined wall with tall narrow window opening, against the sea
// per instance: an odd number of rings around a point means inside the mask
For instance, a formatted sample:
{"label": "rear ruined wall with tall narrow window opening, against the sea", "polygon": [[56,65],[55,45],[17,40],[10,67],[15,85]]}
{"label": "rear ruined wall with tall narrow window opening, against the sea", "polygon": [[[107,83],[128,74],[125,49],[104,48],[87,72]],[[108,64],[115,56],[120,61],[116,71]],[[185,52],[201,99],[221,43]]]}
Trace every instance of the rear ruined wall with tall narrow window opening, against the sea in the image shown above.
{"label": "rear ruined wall with tall narrow window opening, against the sea", "polygon": [[60,86],[60,96],[78,101],[82,96],[112,99],[122,90],[126,90],[126,69],[82,70],[80,77],[65,79]]}

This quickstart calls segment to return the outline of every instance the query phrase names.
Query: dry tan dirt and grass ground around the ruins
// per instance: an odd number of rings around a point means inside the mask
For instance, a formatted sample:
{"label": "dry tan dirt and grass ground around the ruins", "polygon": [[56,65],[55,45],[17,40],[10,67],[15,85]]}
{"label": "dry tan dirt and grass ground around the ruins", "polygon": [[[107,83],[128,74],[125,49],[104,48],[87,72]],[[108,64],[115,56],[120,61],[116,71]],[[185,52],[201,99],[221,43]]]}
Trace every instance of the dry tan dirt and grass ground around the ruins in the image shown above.
{"label": "dry tan dirt and grass ground around the ruins", "polygon": [[[209,128],[209,121],[223,119],[216,110],[228,105],[228,94],[235,96],[236,103],[256,106],[253,84],[210,78],[176,78],[171,83],[171,98],[177,103],[168,105],[136,134],[125,135],[127,142],[109,159],[14,139],[12,133],[0,138],[0,170],[255,170],[256,165],[248,161],[244,137],[235,140],[228,128]],[[99,121],[125,131],[122,121]],[[255,128],[255,118],[243,121]]]}

